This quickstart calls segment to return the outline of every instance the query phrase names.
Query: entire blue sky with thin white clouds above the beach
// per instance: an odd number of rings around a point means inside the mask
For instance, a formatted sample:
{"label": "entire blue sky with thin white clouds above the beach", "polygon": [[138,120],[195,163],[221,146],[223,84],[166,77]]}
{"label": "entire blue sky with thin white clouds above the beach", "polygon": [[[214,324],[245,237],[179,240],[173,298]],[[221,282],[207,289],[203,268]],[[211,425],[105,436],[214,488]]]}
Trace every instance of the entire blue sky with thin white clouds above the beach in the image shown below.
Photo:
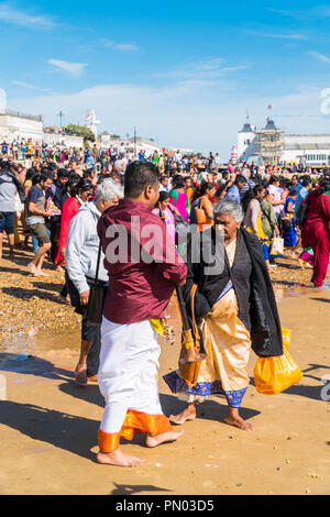
{"label": "entire blue sky with thin white clouds above the beach", "polygon": [[330,132],[330,7],[310,1],[0,1],[0,88],[46,124],[84,123],[226,161],[249,110]]}

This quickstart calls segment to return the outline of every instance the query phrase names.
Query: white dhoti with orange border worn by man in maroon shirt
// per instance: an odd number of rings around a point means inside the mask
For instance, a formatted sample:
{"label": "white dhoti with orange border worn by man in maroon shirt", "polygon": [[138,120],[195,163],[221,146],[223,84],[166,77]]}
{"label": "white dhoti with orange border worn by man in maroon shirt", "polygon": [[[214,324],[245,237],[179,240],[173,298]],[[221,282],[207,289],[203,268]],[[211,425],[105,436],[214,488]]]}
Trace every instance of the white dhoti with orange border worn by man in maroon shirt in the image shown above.
{"label": "white dhoti with orange border worn by man in maroon shirt", "polygon": [[106,409],[99,429],[99,448],[112,452],[120,437],[156,436],[172,429],[158,397],[157,333],[148,320],[119,324],[103,317],[98,372]]}

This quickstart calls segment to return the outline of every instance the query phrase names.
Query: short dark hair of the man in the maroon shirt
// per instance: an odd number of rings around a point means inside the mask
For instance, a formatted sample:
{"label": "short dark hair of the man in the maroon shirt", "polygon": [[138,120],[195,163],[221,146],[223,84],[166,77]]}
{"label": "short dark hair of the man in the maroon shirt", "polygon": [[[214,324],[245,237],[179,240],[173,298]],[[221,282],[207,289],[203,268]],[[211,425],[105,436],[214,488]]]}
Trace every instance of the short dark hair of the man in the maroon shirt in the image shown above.
{"label": "short dark hair of the man in the maroon shirt", "polygon": [[160,183],[160,169],[151,162],[132,162],[124,174],[124,197],[138,198],[143,190]]}

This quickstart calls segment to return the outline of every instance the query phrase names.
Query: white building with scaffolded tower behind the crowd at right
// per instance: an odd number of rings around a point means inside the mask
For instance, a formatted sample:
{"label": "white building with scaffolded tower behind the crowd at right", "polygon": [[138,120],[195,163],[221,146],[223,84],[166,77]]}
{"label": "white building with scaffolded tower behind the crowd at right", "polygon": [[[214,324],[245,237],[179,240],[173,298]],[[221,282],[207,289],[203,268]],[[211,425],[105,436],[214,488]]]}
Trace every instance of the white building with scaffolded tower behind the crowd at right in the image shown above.
{"label": "white building with scaffolded tower behind the crowd at right", "polygon": [[[267,156],[262,152],[261,134],[272,125],[274,135],[280,133],[279,141],[277,142],[277,155],[279,164],[286,163],[287,165],[302,165],[302,166],[318,166],[330,165],[330,134],[286,134],[284,131],[276,129],[273,121],[267,121],[264,129],[257,129],[250,124],[248,121],[242,131],[238,132],[238,155],[239,161],[267,163]],[[266,136],[267,140],[267,136]],[[274,145],[272,135],[268,142],[270,148]],[[263,141],[265,145],[265,141]],[[264,155],[263,155],[264,154]]]}

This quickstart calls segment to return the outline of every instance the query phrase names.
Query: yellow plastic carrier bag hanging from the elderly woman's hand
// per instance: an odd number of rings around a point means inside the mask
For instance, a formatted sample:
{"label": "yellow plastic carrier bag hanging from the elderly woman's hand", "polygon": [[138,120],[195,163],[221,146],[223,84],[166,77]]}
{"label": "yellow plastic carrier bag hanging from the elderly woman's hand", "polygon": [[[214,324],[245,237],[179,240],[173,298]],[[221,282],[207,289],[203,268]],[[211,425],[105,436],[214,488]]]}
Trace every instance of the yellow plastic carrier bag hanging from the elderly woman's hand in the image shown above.
{"label": "yellow plastic carrier bag hanging from the elderly woman's hand", "polygon": [[302,378],[298,365],[288,352],[292,331],[282,329],[283,355],[260,358],[254,367],[256,391],[264,395],[275,395],[284,392]]}

